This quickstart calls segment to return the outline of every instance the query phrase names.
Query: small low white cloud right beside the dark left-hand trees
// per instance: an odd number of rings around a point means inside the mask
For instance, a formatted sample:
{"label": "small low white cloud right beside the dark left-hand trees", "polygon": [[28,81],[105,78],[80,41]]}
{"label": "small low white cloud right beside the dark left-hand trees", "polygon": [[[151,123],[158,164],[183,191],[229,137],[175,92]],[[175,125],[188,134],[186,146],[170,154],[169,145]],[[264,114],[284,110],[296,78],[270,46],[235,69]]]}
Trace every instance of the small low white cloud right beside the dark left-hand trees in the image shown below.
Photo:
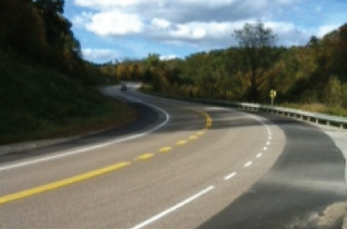
{"label": "small low white cloud right beside the dark left-hand trees", "polygon": [[82,55],[85,59],[98,62],[106,62],[120,57],[117,51],[103,48],[83,48]]}

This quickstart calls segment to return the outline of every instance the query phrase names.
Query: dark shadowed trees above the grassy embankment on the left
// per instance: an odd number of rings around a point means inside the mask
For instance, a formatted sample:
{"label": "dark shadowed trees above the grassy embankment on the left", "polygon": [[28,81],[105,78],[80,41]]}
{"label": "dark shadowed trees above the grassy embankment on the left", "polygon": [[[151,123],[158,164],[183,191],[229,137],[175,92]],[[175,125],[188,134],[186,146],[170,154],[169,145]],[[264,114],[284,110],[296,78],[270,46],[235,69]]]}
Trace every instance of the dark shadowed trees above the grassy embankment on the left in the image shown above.
{"label": "dark shadowed trees above the grassy embankment on the left", "polygon": [[64,0],[1,0],[0,57],[63,73],[84,84],[98,82],[99,68],[85,62],[63,17]]}

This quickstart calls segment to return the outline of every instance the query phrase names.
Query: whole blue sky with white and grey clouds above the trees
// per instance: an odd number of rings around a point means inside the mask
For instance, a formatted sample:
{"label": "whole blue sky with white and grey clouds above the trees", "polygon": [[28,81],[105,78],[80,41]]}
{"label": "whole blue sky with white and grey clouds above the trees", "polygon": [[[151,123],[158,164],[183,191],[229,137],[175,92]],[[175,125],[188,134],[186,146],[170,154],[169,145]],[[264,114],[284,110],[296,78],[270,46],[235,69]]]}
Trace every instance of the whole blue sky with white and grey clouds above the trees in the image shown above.
{"label": "whole blue sky with white and grey clouds above the trees", "polygon": [[347,23],[347,0],[65,0],[83,58],[96,63],[161,59],[237,46],[234,30],[262,21],[280,46]]}

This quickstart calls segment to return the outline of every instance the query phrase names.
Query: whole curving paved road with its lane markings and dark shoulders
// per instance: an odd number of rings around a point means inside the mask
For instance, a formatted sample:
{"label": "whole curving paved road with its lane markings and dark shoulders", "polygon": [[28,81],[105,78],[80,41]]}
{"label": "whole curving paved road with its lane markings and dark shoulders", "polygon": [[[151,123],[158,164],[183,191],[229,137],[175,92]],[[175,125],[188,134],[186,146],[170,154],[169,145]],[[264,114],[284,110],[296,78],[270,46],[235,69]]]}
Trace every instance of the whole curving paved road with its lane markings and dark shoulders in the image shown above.
{"label": "whole curving paved road with its lane markings and dark shoulders", "polygon": [[320,129],[104,92],[137,120],[0,156],[0,228],[339,228],[344,157]]}

